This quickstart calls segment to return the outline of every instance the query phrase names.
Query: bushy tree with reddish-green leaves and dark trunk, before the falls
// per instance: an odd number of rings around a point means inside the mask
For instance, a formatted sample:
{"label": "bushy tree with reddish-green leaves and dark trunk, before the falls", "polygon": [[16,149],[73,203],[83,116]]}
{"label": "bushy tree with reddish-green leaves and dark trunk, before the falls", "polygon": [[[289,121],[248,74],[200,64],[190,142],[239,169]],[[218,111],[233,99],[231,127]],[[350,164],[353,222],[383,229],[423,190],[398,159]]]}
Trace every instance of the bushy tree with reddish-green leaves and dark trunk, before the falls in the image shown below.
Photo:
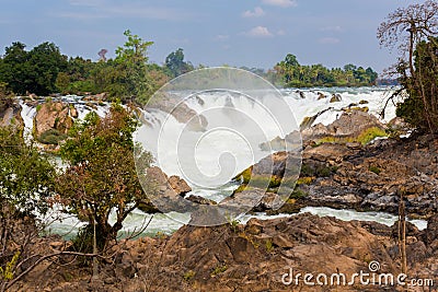
{"label": "bushy tree with reddish-green leaves and dark trunk, before the falls", "polygon": [[[56,180],[57,192],[69,212],[88,222],[84,238],[90,238],[95,224],[101,249],[116,238],[126,217],[147,201],[134,162],[132,133],[137,126],[129,109],[113,105],[106,117],[91,113],[76,124],[61,148],[69,166]],[[151,154],[138,153],[148,167]],[[116,214],[113,225],[108,222],[112,212]]]}

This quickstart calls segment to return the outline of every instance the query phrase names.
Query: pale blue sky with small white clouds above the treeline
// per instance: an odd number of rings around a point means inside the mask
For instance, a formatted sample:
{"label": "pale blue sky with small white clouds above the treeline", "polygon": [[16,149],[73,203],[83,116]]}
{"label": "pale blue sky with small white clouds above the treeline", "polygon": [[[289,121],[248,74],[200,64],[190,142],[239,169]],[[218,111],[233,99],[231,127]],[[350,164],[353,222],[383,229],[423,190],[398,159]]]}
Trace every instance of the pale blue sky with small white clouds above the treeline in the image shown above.
{"label": "pale blue sky with small white clouds above the treeline", "polygon": [[273,68],[287,54],[301,65],[355,63],[382,72],[396,51],[376,31],[412,0],[0,0],[0,55],[54,42],[62,54],[114,57],[125,30],[154,44],[150,61],[177,48],[193,65]]}

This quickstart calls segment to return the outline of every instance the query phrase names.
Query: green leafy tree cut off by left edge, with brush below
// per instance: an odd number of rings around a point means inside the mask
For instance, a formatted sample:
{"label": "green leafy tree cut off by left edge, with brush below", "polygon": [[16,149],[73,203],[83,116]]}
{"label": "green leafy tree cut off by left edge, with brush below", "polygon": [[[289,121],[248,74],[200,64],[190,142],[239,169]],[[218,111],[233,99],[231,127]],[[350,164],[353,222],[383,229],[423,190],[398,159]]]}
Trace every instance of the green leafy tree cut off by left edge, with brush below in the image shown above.
{"label": "green leafy tree cut off by left edge, with brush below", "polygon": [[42,231],[35,215],[49,207],[55,174],[48,159],[16,128],[0,128],[0,291],[8,291],[28,271],[23,267],[38,258],[32,250]]}

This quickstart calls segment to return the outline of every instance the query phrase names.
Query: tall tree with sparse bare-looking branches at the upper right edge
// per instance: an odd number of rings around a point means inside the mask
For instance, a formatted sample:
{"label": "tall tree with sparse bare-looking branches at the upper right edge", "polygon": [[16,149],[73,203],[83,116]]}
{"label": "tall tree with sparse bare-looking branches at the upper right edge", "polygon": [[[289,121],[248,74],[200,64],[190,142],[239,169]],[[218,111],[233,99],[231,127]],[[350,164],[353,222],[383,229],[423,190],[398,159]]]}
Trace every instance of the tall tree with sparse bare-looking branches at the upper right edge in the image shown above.
{"label": "tall tree with sparse bare-looking branches at the upper right edge", "polygon": [[[395,68],[408,97],[403,106],[399,105],[399,115],[408,119],[419,130],[429,132],[438,130],[436,118],[438,112],[434,94],[437,81],[425,72],[429,71],[428,68],[435,67],[437,60],[436,51],[430,51],[436,44],[437,34],[438,2],[436,0],[397,9],[380,24],[377,33],[381,45],[389,48],[399,47],[401,52]],[[428,46],[429,48],[425,49]],[[426,63],[422,60],[425,55],[431,62]]]}

